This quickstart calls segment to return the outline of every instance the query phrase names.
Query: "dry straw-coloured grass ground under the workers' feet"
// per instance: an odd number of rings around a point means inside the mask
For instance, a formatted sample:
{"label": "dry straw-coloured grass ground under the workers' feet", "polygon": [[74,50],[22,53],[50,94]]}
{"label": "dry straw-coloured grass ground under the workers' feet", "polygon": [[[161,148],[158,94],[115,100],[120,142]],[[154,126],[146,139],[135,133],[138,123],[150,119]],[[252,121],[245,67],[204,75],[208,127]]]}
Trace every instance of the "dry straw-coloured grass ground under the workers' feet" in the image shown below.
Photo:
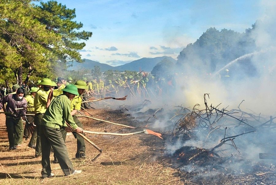
{"label": "dry straw-coloured grass ground under the workers' feet", "polygon": [[[89,110],[99,119],[130,125],[130,118],[116,114],[112,110]],[[122,119],[119,119],[122,118]],[[122,128],[87,118],[80,118],[84,129],[95,132],[132,132],[133,129]],[[139,126],[139,125],[132,125]],[[164,167],[155,160],[154,147],[146,141],[162,142],[152,135],[106,136],[86,134],[92,142],[103,149],[102,155],[91,162],[99,152],[86,142],[86,159],[75,159],[76,139],[72,134],[66,138],[69,157],[74,168],[82,170],[78,175],[65,177],[59,164],[51,164],[54,178],[40,179],[40,158],[34,158],[35,151],[28,148],[28,142],[15,151],[8,151],[8,139],[5,131],[5,117],[0,115],[0,184],[182,184],[174,174],[176,170]],[[123,130],[122,130],[123,129]],[[51,159],[53,156],[51,154]]]}

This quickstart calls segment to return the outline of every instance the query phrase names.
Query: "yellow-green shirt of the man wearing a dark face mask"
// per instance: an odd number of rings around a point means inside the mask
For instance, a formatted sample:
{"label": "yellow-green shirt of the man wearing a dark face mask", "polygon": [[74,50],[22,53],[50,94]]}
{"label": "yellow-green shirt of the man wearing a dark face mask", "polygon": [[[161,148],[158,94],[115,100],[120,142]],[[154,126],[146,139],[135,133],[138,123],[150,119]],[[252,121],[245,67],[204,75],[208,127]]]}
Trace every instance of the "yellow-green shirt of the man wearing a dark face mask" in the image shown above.
{"label": "yellow-green shirt of the man wearing a dark face mask", "polygon": [[[50,92],[50,90],[49,90]],[[49,94],[49,93],[48,93]],[[34,112],[36,114],[40,113],[43,114],[46,111],[46,105],[47,105],[47,99],[48,94],[43,89],[39,88],[39,90],[36,92],[33,105],[34,105]]]}

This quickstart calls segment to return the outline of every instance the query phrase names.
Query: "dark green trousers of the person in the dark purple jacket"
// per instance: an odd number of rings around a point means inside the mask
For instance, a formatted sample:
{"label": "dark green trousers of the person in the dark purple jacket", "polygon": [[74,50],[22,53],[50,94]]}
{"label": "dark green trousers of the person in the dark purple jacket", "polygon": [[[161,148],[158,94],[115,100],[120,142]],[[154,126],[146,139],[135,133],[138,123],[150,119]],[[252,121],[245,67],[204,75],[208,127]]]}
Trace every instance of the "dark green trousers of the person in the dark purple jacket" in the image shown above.
{"label": "dark green trousers of the person in the dark purple jacket", "polygon": [[22,143],[23,138],[23,121],[21,118],[6,116],[6,127],[10,148]]}

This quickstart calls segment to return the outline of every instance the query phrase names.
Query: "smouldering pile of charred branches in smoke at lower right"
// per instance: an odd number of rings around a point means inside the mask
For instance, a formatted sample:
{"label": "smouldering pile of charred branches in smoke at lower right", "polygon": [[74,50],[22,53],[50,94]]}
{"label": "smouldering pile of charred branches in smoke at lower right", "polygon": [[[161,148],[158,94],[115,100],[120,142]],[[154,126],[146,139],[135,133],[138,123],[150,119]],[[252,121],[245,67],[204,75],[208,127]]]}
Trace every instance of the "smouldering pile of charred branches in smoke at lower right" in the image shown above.
{"label": "smouldering pile of charred branches in smoke at lower right", "polygon": [[276,124],[261,114],[207,104],[178,106],[168,161],[197,184],[276,184]]}

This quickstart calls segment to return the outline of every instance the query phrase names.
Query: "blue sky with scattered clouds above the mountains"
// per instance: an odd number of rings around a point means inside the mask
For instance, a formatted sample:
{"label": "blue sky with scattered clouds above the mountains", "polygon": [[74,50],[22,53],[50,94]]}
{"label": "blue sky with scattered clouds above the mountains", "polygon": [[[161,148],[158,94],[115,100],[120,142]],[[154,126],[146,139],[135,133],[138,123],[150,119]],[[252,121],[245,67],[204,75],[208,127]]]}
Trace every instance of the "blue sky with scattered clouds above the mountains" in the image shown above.
{"label": "blue sky with scattered clouds above the mountains", "polygon": [[[45,2],[45,1],[44,1]],[[206,29],[244,32],[263,14],[254,0],[57,0],[92,31],[82,58],[121,65],[142,57],[176,59]]]}

